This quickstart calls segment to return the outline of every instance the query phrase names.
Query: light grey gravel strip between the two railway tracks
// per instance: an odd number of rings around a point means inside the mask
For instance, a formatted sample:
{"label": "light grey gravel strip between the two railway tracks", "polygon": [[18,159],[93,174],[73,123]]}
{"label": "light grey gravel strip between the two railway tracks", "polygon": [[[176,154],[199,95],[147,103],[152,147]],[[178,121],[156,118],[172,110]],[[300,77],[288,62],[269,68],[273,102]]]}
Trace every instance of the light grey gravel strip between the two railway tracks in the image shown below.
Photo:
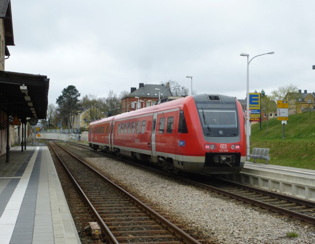
{"label": "light grey gravel strip between the two railway tracks", "polygon": [[[216,198],[198,187],[166,180],[117,160],[86,160],[179,222],[186,223],[187,228],[203,235],[209,243],[315,243],[313,225],[257,212],[230,200]],[[299,236],[286,237],[289,232]]]}

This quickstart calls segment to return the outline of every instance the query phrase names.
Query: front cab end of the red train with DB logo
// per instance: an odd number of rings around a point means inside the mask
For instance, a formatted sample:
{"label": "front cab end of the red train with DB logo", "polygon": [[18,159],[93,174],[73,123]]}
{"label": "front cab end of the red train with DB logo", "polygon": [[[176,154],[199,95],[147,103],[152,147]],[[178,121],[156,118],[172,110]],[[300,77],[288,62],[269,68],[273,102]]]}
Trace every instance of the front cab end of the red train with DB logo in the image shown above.
{"label": "front cab end of the red train with DB logo", "polygon": [[235,98],[196,95],[180,106],[178,117],[177,170],[205,175],[242,170],[246,137],[243,111]]}

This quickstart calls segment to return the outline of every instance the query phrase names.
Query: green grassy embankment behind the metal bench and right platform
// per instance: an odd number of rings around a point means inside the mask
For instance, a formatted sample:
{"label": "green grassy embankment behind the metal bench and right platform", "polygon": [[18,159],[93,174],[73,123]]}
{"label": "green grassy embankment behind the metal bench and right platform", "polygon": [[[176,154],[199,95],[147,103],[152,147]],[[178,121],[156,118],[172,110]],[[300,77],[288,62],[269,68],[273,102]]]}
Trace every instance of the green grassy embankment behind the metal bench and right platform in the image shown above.
{"label": "green grassy embankment behind the metal bench and right platform", "polygon": [[[270,148],[268,164],[315,170],[315,112],[289,115],[287,125],[277,118],[251,126],[253,148]],[[250,158],[253,161],[253,158]],[[265,163],[266,160],[256,160]]]}

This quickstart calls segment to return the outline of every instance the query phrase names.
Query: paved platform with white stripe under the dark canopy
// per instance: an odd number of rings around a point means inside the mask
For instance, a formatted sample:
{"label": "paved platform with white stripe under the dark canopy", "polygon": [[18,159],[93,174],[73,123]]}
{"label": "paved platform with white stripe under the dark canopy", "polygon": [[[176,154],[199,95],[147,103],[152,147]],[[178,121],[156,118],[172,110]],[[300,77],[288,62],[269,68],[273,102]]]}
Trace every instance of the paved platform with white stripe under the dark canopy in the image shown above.
{"label": "paved platform with white stripe under the dark canopy", "polygon": [[81,243],[46,144],[0,157],[0,244]]}

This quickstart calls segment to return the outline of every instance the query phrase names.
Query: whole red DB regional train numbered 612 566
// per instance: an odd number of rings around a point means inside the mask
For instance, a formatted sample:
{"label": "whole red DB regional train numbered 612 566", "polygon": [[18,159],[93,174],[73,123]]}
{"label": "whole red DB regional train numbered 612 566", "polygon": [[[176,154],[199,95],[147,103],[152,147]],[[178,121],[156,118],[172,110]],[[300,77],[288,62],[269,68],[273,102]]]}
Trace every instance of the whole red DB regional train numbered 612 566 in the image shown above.
{"label": "whole red DB regional train numbered 612 566", "polygon": [[186,96],[90,123],[89,146],[175,173],[236,173],[246,159],[243,118],[234,97]]}

